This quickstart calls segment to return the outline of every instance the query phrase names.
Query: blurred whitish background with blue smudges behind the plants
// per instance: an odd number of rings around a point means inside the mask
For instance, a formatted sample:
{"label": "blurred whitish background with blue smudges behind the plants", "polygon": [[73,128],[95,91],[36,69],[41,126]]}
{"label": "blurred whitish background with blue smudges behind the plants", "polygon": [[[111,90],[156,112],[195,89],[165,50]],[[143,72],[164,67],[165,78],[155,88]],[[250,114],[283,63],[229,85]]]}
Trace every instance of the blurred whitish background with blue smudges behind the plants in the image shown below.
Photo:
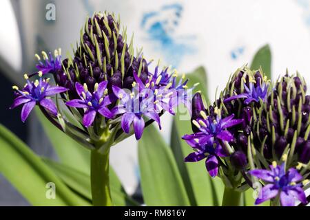
{"label": "blurred whitish background with blue smudges behind the plants", "polygon": [[[55,17],[49,19],[47,13],[53,9]],[[121,15],[128,35],[134,32],[136,47],[143,46],[145,58],[160,59],[181,73],[203,65],[210,97],[265,44],[271,48],[274,78],[288,68],[290,72],[298,70],[310,82],[310,0],[1,0],[0,123],[39,155],[56,159],[37,116],[32,113],[23,124],[19,110],[8,110],[12,85],[21,84],[25,72],[34,72],[34,54],[41,50],[61,47],[63,55],[71,52],[70,44],[78,41],[85,17],[104,10]],[[171,118],[163,115],[165,140],[170,126]],[[134,137],[112,148],[110,162],[125,190],[138,196]],[[28,203],[0,173],[3,205]]]}

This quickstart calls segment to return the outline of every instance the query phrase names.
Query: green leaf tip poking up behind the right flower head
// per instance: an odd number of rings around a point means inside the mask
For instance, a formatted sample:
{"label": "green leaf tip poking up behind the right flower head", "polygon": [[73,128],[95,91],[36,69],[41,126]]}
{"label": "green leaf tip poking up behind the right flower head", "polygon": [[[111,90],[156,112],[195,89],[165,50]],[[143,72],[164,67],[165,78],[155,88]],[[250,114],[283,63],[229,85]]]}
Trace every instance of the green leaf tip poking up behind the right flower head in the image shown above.
{"label": "green leaf tip poking up behind the right flower head", "polygon": [[256,52],[251,63],[251,69],[260,69],[271,79],[271,51],[269,45],[265,45]]}

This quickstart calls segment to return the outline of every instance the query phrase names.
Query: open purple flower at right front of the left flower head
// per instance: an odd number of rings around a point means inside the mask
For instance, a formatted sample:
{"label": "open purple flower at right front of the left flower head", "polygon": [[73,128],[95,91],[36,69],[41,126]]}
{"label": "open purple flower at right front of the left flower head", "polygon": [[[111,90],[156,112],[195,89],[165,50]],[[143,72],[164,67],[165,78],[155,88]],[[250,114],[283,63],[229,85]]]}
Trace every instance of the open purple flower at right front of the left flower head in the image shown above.
{"label": "open purple flower at right front of the left flower head", "polygon": [[133,87],[132,93],[128,94],[124,89],[113,86],[115,96],[120,100],[118,106],[112,109],[114,115],[121,114],[121,126],[125,133],[130,133],[130,126],[133,124],[136,140],[142,136],[145,127],[143,116],[157,122],[161,129],[161,121],[158,113],[155,111],[154,97],[147,96],[137,87]]}

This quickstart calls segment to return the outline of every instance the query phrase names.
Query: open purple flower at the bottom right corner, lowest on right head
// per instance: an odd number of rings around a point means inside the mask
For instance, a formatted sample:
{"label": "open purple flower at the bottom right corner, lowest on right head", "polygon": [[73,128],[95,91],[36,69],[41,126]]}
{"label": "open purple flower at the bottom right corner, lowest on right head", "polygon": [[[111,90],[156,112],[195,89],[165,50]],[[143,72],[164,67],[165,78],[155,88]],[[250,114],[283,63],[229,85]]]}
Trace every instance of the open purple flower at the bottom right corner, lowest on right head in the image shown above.
{"label": "open purple flower at the bottom right corner, lowest on right head", "polygon": [[267,181],[267,185],[258,194],[258,199],[255,201],[256,205],[278,195],[280,195],[282,206],[294,206],[296,199],[302,203],[307,203],[302,184],[298,183],[302,180],[302,175],[295,168],[289,168],[285,172],[285,163],[279,166],[276,165],[276,162],[273,162],[270,170],[256,169],[249,171],[249,173]]}

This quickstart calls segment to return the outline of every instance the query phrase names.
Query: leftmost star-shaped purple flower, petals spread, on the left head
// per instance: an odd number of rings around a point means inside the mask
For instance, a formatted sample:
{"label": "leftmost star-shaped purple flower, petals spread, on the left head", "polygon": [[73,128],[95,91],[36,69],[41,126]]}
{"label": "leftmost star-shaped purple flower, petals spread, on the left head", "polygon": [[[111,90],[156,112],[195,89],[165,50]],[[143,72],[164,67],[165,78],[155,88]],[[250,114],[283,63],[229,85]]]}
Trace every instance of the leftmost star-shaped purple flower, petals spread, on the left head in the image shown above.
{"label": "leftmost star-shaped purple flower, petals spread, on the left head", "polygon": [[39,80],[30,82],[30,80],[28,80],[28,76],[25,75],[27,84],[23,89],[13,86],[13,89],[16,89],[17,91],[17,98],[15,98],[10,109],[14,109],[15,107],[23,104],[23,109],[21,109],[21,120],[23,122],[25,122],[28,118],[30,111],[32,111],[36,104],[48,110],[52,113],[52,115],[57,115],[56,105],[49,96],[67,91],[64,87],[50,86],[48,80],[41,78],[41,72],[39,72],[39,76]]}

